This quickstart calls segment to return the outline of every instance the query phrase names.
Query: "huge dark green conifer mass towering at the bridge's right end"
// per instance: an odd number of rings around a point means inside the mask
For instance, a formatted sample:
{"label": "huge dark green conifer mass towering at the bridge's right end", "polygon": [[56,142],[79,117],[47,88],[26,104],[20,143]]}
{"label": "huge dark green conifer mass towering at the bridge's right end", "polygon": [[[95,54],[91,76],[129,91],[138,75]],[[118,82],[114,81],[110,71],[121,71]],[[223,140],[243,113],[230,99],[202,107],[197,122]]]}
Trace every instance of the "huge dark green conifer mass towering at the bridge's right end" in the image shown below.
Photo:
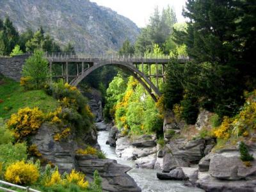
{"label": "huge dark green conifer mass towering at the bridge's right end", "polygon": [[189,0],[183,13],[190,19],[188,28],[174,30],[176,42],[186,44],[188,55],[193,58],[180,75],[182,85],[198,99],[211,103],[209,109],[219,116],[236,114],[244,102],[243,90],[255,88],[255,65],[248,59],[255,50],[255,31],[250,30],[255,26],[255,4]]}

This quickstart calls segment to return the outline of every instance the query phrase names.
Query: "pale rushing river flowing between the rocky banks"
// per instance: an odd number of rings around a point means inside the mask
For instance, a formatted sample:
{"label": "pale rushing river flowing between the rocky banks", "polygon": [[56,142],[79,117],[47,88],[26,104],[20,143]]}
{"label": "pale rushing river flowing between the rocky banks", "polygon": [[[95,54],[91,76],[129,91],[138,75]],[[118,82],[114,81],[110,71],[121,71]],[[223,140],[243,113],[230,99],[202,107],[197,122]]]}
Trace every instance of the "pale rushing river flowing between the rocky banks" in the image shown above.
{"label": "pale rushing river flowing between the rocky banks", "polygon": [[116,157],[115,148],[106,145],[106,141],[108,140],[108,133],[108,131],[100,131],[98,134],[98,142],[101,150],[106,153],[108,159],[116,159],[116,161],[120,164],[131,166],[132,170],[130,170],[128,174],[135,180],[135,182],[138,184],[138,186],[140,186],[143,192],[204,191],[198,188],[188,188],[183,185],[184,182],[182,181],[159,180],[156,177],[156,170],[135,168],[134,162]]}

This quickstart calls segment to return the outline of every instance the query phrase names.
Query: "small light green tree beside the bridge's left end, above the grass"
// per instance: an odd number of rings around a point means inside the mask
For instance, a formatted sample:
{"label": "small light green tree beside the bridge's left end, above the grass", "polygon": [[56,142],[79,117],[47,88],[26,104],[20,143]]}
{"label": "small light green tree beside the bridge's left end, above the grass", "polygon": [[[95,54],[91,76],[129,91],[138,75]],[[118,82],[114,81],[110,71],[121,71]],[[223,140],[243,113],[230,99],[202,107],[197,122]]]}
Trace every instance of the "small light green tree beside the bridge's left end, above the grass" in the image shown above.
{"label": "small light green tree beside the bridge's left end, above the grass", "polygon": [[22,76],[30,77],[36,88],[41,88],[49,77],[48,61],[43,58],[44,52],[35,50],[22,68]]}

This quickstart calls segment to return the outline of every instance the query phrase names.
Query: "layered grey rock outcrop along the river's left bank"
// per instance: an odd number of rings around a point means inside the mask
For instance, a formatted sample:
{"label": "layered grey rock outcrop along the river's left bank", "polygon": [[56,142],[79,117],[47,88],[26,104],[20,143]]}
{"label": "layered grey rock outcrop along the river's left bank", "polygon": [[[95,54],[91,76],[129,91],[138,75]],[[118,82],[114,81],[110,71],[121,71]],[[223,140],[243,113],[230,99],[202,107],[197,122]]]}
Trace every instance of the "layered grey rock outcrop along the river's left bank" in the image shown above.
{"label": "layered grey rock outcrop along the river's left bank", "polygon": [[58,166],[61,173],[76,169],[84,172],[88,180],[92,180],[93,172],[98,170],[102,177],[103,191],[141,191],[132,177],[127,174],[131,170],[130,167],[118,164],[111,159],[76,154],[78,148],[85,148],[87,144],[100,150],[95,129],[79,135],[72,132],[61,141],[54,141],[56,132],[58,127],[44,123],[37,134],[31,137],[31,143],[36,145],[38,152],[42,154],[41,158]]}

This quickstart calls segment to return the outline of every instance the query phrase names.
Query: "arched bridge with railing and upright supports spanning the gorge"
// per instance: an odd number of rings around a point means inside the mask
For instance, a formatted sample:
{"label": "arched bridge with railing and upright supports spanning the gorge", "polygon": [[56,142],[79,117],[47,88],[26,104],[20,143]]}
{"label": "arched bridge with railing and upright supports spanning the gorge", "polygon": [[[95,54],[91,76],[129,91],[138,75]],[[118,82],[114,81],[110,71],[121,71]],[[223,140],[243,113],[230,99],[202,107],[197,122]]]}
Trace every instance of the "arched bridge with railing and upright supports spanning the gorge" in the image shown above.
{"label": "arched bridge with railing and upright supports spanning the gorge", "polygon": [[[50,72],[52,72],[53,68],[56,68],[56,65],[61,68],[59,74],[54,74],[52,77],[63,78],[72,86],[77,86],[86,76],[100,67],[113,65],[122,68],[142,84],[155,102],[161,96],[159,80],[164,82],[166,65],[170,61],[170,56],[164,55],[93,55],[84,53],[47,53],[45,58],[49,61]],[[180,63],[185,63],[188,60],[186,57],[179,58]],[[154,73],[152,73],[152,65],[156,66]],[[75,74],[74,66],[76,67]],[[147,72],[144,71],[144,66],[148,69]],[[71,68],[73,70],[70,70]],[[156,79],[155,84],[152,81],[153,78]]]}

